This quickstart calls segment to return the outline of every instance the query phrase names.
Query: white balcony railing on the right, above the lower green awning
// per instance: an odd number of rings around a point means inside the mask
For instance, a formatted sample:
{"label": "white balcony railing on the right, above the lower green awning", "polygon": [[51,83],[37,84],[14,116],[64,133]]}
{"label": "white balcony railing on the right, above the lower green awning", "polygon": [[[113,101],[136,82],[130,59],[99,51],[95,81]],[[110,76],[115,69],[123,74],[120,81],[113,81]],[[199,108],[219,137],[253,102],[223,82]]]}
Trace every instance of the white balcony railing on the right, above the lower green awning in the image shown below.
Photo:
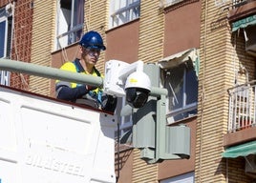
{"label": "white balcony railing on the right, above the lower green awning", "polygon": [[228,132],[256,126],[256,81],[231,88],[229,92]]}

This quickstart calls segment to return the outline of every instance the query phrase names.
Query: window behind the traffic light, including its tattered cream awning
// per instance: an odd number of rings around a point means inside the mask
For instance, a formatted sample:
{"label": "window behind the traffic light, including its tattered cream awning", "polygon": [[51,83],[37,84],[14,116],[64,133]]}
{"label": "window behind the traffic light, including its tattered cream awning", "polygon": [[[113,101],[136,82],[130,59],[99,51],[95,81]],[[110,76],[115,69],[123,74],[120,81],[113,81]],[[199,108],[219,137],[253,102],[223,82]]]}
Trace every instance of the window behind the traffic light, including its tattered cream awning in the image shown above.
{"label": "window behind the traffic light, including its tattered cream awning", "polygon": [[161,81],[168,91],[167,120],[173,123],[197,113],[199,53],[182,51],[162,59]]}

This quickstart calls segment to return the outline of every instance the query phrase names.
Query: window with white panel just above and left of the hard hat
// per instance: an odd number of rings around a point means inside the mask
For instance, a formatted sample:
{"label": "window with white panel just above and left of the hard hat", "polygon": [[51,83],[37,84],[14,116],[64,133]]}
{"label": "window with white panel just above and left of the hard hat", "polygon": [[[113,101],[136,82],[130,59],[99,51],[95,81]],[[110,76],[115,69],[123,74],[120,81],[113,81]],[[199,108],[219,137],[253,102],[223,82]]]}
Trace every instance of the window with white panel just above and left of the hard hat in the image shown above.
{"label": "window with white panel just above and left of the hard hat", "polygon": [[56,49],[79,41],[83,23],[84,0],[58,0]]}

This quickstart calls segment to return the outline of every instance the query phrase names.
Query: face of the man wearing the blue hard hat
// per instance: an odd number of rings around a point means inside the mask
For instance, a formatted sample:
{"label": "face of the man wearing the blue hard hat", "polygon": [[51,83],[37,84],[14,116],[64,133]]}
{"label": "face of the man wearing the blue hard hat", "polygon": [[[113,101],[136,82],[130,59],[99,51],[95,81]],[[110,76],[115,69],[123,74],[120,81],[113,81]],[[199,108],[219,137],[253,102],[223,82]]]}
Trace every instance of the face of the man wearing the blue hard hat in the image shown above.
{"label": "face of the man wearing the blue hard hat", "polygon": [[82,58],[88,64],[96,65],[96,61],[98,60],[100,50],[98,49],[86,49],[81,47]]}

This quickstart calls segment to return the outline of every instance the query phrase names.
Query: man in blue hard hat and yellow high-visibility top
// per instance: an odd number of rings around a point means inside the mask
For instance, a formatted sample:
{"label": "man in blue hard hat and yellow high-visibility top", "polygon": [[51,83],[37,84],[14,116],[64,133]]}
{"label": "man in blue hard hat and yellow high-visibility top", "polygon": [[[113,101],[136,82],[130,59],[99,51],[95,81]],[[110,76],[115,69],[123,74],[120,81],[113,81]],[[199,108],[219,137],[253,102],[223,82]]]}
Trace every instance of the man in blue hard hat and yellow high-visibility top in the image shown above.
{"label": "man in blue hard hat and yellow high-visibility top", "polygon": [[[96,31],[88,31],[79,41],[80,59],[66,62],[60,68],[65,71],[75,71],[82,74],[91,74],[103,78],[96,70],[96,62],[100,51],[105,51],[101,35]],[[85,104],[94,108],[114,112],[117,106],[117,98],[104,94],[102,88],[92,87],[86,84],[69,83],[56,80],[56,97],[79,104]]]}

